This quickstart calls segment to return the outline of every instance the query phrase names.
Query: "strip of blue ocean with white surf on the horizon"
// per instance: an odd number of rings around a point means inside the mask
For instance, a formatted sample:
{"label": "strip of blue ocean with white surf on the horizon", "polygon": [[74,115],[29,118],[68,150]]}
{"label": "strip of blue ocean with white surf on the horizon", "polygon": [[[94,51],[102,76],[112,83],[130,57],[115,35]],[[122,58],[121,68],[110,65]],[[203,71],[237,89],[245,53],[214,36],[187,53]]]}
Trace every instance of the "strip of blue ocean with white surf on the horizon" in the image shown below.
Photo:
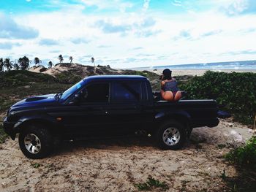
{"label": "strip of blue ocean with white surf on the horizon", "polygon": [[[141,67],[143,68],[143,67]],[[256,60],[253,61],[232,61],[232,62],[219,62],[207,64],[181,64],[181,65],[167,65],[167,66],[153,66],[151,69],[233,69],[233,70],[256,70]]]}

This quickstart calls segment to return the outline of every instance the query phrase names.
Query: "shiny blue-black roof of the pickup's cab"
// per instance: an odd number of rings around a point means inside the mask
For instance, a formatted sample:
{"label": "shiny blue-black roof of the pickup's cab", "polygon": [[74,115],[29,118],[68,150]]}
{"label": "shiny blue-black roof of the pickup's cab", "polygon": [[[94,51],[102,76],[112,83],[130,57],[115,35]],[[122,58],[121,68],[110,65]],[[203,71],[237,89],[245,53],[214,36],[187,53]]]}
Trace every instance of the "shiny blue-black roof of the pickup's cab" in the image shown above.
{"label": "shiny blue-black roof of the pickup's cab", "polygon": [[116,74],[110,74],[110,75],[94,75],[84,78],[83,80],[86,80],[87,82],[91,80],[147,80],[146,77],[140,76],[140,75],[116,75]]}

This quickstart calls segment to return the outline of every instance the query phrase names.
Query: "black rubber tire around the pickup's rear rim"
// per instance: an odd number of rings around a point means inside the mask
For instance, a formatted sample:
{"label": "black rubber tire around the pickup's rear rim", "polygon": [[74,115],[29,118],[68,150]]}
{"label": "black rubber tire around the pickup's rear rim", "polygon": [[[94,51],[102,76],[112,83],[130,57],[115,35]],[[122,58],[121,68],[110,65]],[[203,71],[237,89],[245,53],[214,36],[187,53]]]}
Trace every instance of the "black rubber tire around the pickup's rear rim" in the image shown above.
{"label": "black rubber tire around the pickup's rear rim", "polygon": [[[171,129],[171,131],[174,131],[174,133],[179,134],[179,138],[178,139],[170,139],[173,137],[166,136],[167,129],[168,130]],[[173,135],[173,134],[170,134],[170,135]],[[165,121],[164,123],[162,123],[162,125],[159,127],[156,137],[157,137],[156,138],[157,144],[163,150],[178,150],[186,142],[186,139],[187,139],[186,128],[184,127],[183,124],[179,123],[176,120],[168,120],[168,121]],[[165,139],[166,137],[167,137],[167,139]],[[175,141],[175,142],[173,142],[173,141]],[[168,143],[168,145],[167,145],[167,143]]]}

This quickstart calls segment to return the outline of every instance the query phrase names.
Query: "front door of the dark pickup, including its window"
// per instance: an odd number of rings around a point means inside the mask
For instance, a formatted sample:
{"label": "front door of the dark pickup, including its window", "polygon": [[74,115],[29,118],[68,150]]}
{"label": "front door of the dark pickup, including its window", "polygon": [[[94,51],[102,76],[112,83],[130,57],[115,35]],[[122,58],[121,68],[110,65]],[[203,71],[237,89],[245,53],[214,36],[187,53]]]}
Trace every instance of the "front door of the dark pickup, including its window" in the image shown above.
{"label": "front door of the dark pickup, including its window", "polygon": [[68,134],[105,135],[108,120],[105,107],[109,105],[110,85],[94,82],[82,89],[78,104],[67,108],[64,125]]}

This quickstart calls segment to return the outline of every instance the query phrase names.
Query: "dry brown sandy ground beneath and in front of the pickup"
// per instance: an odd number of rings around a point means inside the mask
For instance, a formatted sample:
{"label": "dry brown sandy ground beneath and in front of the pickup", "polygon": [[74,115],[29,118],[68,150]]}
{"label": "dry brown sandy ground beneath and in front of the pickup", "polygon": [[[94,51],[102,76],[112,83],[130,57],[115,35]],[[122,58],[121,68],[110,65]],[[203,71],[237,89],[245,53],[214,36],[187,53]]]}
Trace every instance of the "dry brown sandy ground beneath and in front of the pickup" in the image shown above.
{"label": "dry brown sandy ground beneath and in front of the pickup", "polygon": [[222,155],[250,137],[252,129],[221,120],[195,128],[181,150],[159,150],[150,138],[68,142],[42,160],[24,157],[8,139],[0,145],[0,191],[138,191],[134,184],[149,175],[167,191],[223,191],[223,170],[234,177],[236,169]]}

